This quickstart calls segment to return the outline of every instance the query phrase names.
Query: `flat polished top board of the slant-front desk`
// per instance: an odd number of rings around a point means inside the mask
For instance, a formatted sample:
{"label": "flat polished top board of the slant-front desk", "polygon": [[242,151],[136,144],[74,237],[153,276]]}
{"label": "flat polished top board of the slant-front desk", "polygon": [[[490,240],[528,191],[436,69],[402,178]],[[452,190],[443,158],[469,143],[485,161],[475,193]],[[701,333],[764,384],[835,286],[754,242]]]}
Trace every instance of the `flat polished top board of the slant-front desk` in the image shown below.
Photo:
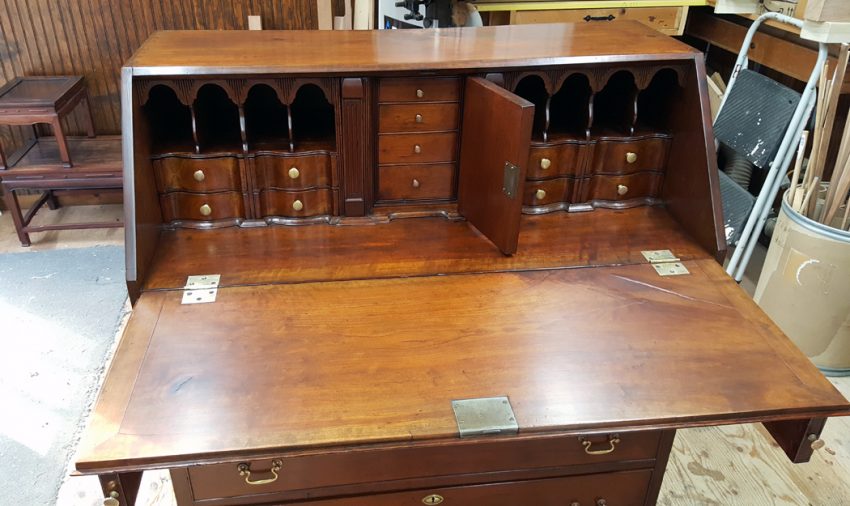
{"label": "flat polished top board of the slant-front desk", "polygon": [[[696,50],[640,23],[485,26],[440,30],[157,32],[127,61],[135,75],[355,74],[691,60]],[[628,43],[623,43],[628,40]],[[298,47],[299,51],[290,51]],[[422,51],[423,47],[433,50]],[[286,58],[280,58],[286,54]],[[416,58],[411,58],[416,54]],[[397,97],[395,100],[414,100]],[[423,97],[423,100],[426,97]]]}

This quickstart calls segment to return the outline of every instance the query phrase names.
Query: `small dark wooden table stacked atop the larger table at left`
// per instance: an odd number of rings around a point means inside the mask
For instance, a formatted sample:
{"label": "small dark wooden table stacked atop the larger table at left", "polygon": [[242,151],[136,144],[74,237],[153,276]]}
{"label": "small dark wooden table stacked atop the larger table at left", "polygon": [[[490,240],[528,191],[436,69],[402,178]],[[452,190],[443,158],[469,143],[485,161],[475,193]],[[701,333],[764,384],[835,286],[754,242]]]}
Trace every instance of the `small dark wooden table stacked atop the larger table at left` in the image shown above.
{"label": "small dark wooden table stacked atop the larger table at left", "polygon": [[[62,164],[71,167],[71,153],[60,119],[81,102],[86,110],[86,133],[94,137],[88,92],[82,76],[17,77],[0,88],[0,125],[33,125],[35,133],[37,123],[49,123],[53,126]],[[0,146],[0,169],[6,167],[6,156]]]}

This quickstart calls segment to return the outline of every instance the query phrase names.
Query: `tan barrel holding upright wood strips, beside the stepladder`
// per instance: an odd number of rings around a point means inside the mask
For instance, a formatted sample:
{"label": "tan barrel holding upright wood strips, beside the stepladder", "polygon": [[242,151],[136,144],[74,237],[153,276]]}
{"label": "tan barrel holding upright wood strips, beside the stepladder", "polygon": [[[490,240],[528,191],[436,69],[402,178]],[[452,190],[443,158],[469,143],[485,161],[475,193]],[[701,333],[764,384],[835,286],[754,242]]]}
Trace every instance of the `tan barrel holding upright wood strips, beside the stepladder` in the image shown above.
{"label": "tan barrel holding upright wood strips, beside the stepladder", "polygon": [[782,199],[755,301],[827,376],[850,375],[850,232]]}

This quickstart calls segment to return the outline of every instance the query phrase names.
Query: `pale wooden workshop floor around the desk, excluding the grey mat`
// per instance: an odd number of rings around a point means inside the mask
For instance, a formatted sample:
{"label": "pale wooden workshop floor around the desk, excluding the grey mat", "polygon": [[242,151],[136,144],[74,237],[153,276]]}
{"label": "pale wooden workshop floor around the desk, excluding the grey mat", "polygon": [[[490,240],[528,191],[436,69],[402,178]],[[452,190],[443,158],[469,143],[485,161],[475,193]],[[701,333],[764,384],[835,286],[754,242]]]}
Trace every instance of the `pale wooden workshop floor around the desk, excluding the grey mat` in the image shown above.
{"label": "pale wooden workshop floor around the desk, excluding the grey mat", "polygon": [[[120,214],[120,206],[80,206],[44,212],[40,218],[45,221],[86,220]],[[32,240],[31,248],[35,250],[120,245],[123,243],[123,229],[49,232],[33,234]],[[0,252],[18,251],[24,249],[17,242],[9,214],[3,213],[0,216]],[[751,270],[757,276],[758,266]],[[752,279],[743,286],[752,291]],[[706,374],[710,372],[706,371]],[[832,382],[846,397],[850,397],[850,377],[834,378]],[[823,439],[826,446],[815,453],[811,462],[794,465],[772,443],[761,425],[681,430],[673,445],[659,504],[850,504],[850,417],[831,419]],[[45,463],[54,466],[66,464]],[[70,470],[69,467],[69,473]],[[97,479],[68,478],[60,490],[57,504],[101,505]],[[138,504],[175,504],[167,472],[145,473]]]}

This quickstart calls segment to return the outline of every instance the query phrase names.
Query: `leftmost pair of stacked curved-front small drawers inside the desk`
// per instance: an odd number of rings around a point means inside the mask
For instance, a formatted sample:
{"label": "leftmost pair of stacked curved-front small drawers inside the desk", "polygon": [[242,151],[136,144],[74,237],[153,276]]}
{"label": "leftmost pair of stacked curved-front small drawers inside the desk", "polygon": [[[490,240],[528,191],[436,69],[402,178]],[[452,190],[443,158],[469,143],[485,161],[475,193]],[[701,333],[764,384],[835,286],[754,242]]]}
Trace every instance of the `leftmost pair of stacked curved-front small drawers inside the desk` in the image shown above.
{"label": "leftmost pair of stacked curved-front small drawers inside the desk", "polygon": [[238,158],[169,156],[155,159],[153,166],[166,223],[247,216]]}

